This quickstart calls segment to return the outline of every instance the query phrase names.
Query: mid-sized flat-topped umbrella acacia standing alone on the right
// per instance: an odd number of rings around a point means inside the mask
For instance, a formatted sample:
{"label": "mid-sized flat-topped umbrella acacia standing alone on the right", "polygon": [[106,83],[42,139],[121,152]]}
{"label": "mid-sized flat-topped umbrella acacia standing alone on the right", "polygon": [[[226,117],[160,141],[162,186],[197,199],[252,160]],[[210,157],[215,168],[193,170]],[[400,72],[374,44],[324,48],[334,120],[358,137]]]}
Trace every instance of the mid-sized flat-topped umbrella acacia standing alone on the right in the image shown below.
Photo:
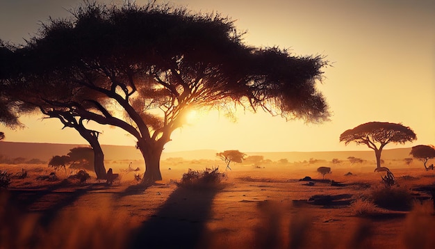
{"label": "mid-sized flat-topped umbrella acacia standing alone on the right", "polygon": [[340,142],[367,145],[375,150],[377,169],[381,168],[381,152],[388,143],[406,143],[416,140],[414,131],[402,124],[390,122],[368,122],[340,135]]}

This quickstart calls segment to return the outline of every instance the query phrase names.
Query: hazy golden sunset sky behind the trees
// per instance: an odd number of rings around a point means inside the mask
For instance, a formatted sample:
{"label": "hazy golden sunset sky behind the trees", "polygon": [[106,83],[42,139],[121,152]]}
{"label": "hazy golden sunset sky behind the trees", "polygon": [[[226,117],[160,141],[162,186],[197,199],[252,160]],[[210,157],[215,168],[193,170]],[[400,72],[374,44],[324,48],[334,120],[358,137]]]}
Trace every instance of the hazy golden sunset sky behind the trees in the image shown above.
{"label": "hazy golden sunset sky behind the trees", "polygon": [[[40,22],[66,17],[81,1],[1,0],[0,39],[24,43]],[[123,1],[105,1],[123,3]],[[145,3],[146,1],[136,1]],[[161,2],[161,1],[158,1]],[[339,143],[340,134],[371,121],[402,122],[418,140],[405,145],[435,144],[435,0],[293,1],[179,0],[193,12],[215,11],[246,30],[245,42],[279,46],[295,55],[322,54],[333,63],[318,87],[327,97],[331,122],[286,122],[265,113],[240,110],[231,123],[219,113],[197,115],[177,130],[165,151],[215,149],[260,151],[368,150]],[[74,129],[43,115],[23,118],[26,129],[0,126],[9,141],[85,143]],[[102,144],[134,145],[131,136],[110,127]]]}

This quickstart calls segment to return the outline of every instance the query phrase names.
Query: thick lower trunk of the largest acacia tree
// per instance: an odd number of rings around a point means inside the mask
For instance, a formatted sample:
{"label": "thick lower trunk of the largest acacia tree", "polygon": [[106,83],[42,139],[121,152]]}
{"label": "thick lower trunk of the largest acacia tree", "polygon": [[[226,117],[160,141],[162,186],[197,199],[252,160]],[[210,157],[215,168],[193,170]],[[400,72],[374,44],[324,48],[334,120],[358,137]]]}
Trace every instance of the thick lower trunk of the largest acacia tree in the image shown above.
{"label": "thick lower trunk of the largest acacia tree", "polygon": [[140,184],[147,185],[161,181],[160,158],[163,152],[163,145],[158,141],[152,144],[138,141],[138,149],[142,152],[142,156],[145,159],[145,174]]}

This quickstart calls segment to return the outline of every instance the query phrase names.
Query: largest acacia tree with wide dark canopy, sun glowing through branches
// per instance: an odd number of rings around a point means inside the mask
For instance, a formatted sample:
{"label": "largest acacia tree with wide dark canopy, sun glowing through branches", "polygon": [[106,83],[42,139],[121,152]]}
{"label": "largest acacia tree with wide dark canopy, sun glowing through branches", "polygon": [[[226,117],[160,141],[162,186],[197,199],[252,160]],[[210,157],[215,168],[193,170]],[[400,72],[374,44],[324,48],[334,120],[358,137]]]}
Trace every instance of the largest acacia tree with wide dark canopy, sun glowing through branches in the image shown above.
{"label": "largest acacia tree with wide dark canopy, sun glowing through branches", "polygon": [[322,56],[245,45],[227,17],[154,3],[90,3],[72,13],[18,49],[19,79],[40,92],[69,85],[80,102],[51,104],[128,131],[145,159],[142,183],[162,179],[161,153],[190,109],[236,104],[306,122],[329,117],[315,87]]}

